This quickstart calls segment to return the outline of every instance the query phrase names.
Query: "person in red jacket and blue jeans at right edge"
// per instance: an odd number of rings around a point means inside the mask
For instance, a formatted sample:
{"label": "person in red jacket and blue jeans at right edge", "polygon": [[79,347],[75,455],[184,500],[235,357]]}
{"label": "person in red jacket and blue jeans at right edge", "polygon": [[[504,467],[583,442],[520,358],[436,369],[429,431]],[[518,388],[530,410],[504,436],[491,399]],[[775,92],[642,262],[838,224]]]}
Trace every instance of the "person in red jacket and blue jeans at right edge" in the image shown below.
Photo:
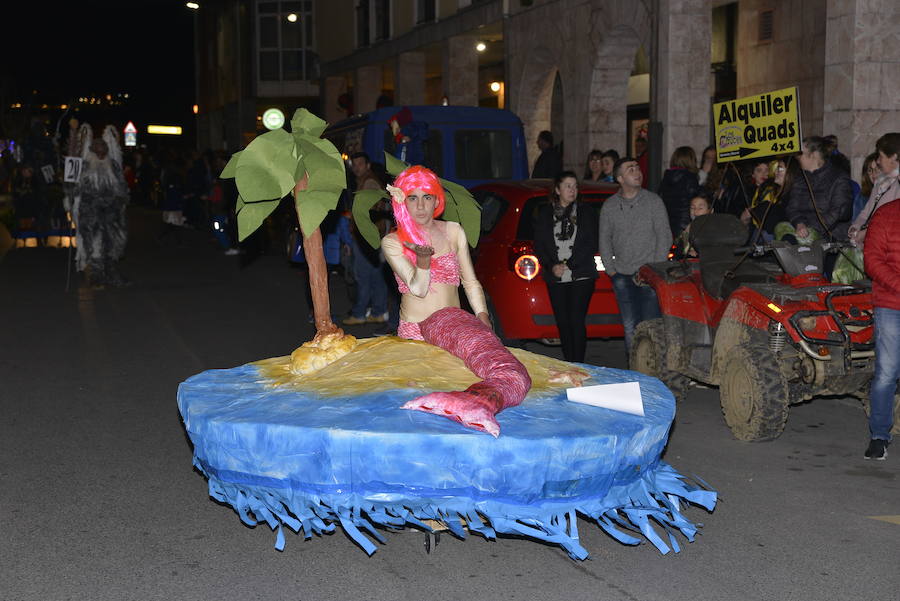
{"label": "person in red jacket and blue jeans at right edge", "polygon": [[875,211],[866,234],[866,273],[875,306],[875,376],[869,392],[866,459],[887,458],[900,378],[900,198]]}

